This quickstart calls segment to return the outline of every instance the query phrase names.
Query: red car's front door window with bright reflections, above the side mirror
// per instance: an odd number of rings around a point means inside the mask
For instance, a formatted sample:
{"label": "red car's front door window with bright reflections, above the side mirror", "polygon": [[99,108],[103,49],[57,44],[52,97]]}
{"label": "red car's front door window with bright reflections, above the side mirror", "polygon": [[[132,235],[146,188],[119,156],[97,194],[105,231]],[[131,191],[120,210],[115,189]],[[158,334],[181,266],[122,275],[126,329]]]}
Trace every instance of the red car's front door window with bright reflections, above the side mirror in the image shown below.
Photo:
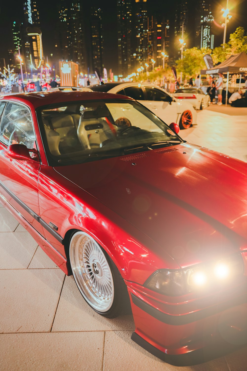
{"label": "red car's front door window with bright reflections, above the side mirror", "polygon": [[28,108],[16,103],[7,103],[0,125],[0,141],[6,145],[24,144],[34,147],[35,134]]}

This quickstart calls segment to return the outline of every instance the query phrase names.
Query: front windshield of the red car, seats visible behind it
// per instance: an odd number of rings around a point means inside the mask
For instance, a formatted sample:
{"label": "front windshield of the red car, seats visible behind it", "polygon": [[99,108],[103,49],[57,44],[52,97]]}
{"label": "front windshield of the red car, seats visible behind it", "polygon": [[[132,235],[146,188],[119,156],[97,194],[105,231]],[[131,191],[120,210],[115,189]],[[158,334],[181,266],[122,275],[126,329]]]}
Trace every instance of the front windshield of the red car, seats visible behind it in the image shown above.
{"label": "front windshield of the red car, seats visible behind it", "polygon": [[182,140],[141,104],[71,102],[37,111],[49,165],[73,164],[177,145]]}

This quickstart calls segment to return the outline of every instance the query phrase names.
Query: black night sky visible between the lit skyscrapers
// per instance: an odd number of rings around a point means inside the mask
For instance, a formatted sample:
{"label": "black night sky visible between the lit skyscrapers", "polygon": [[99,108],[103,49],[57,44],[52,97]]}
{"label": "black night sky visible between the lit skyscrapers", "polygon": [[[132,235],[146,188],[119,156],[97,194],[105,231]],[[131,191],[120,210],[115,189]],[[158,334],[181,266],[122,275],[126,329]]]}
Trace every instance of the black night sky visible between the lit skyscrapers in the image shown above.
{"label": "black night sky visible between the lit skyscrapers", "polygon": [[[57,4],[59,0],[37,0],[37,6],[40,11],[40,28],[42,31],[43,50],[44,56],[50,55],[54,52],[54,29],[57,21]],[[196,0],[188,0],[189,6],[189,18],[191,17],[191,23],[195,16]],[[104,64],[107,68],[117,70],[117,0],[106,0],[97,1],[90,0],[91,3],[100,4],[103,11],[103,30],[104,30]],[[214,35],[215,35],[215,46],[219,46],[223,41],[223,27],[218,27],[217,23],[222,20],[222,7],[226,7],[226,0],[212,0],[213,3],[212,13],[215,16]],[[243,26],[247,31],[247,1],[246,0],[229,0],[229,8],[232,4],[234,5],[231,10],[233,15],[232,19],[227,26],[227,40],[229,34],[234,32],[238,26]],[[171,32],[174,24],[174,12],[176,7],[176,1],[174,0],[147,0],[149,8],[153,14],[163,13],[167,19],[170,20]],[[216,14],[218,16],[216,17]],[[0,8],[0,58],[8,57],[8,49],[13,49],[13,39],[11,26],[14,20],[21,22],[23,19],[23,1],[12,0],[12,1],[1,1]],[[193,30],[191,30],[191,33]],[[189,35],[190,36],[190,35]],[[192,36],[192,35],[191,35]],[[171,40],[172,41],[172,40]],[[189,45],[192,47],[193,45]],[[0,65],[2,66],[3,60],[0,59]]]}

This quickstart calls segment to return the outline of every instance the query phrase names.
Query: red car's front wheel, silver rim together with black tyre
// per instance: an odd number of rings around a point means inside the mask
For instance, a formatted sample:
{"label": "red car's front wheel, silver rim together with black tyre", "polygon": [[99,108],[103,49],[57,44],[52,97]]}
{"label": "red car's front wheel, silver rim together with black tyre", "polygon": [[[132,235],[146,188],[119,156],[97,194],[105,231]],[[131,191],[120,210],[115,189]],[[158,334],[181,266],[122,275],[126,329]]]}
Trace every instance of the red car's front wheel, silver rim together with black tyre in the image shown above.
{"label": "red car's front wheel, silver rim together with black tyre", "polygon": [[[100,245],[84,232],[70,240],[70,264],[81,295],[97,313],[108,318],[126,312],[126,285]],[[122,299],[126,303],[122,303]]]}

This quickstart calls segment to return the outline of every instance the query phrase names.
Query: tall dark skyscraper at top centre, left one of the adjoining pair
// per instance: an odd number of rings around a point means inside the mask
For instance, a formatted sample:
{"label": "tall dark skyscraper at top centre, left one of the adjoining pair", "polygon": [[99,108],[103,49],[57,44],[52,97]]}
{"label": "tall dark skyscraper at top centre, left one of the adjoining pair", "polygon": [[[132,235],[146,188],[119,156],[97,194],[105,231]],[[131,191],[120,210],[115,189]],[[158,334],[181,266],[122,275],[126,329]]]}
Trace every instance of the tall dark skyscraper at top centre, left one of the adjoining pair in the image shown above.
{"label": "tall dark skyscraper at top centre, left one of the adjoining pair", "polygon": [[131,27],[132,1],[117,0],[117,41],[119,75],[127,76],[131,71]]}

